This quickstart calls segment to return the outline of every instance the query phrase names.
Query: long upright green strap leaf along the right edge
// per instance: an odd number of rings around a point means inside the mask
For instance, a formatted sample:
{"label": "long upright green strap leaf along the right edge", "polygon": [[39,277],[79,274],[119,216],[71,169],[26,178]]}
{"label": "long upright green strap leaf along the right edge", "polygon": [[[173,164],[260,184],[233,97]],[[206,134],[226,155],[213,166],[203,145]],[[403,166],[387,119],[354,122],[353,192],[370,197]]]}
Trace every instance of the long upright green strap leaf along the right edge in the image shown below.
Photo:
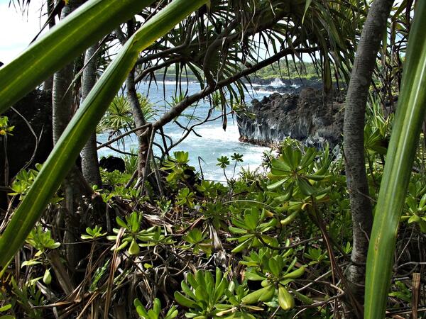
{"label": "long upright green strap leaf along the right edge", "polygon": [[417,1],[368,247],[364,318],[385,318],[398,224],[426,111],[426,1]]}

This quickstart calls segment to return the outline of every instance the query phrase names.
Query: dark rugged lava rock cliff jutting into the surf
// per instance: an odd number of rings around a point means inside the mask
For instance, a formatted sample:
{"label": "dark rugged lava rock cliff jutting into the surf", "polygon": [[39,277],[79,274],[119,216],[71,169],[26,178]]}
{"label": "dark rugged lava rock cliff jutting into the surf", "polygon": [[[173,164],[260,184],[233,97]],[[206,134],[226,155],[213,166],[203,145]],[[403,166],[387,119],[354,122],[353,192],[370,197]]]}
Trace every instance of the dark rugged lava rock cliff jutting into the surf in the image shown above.
{"label": "dark rugged lava rock cliff jutting into the surf", "polygon": [[328,141],[334,147],[342,140],[342,100],[324,103],[319,89],[274,93],[251,104],[246,113],[237,116],[241,142],[272,145],[290,137],[308,146],[322,147]]}

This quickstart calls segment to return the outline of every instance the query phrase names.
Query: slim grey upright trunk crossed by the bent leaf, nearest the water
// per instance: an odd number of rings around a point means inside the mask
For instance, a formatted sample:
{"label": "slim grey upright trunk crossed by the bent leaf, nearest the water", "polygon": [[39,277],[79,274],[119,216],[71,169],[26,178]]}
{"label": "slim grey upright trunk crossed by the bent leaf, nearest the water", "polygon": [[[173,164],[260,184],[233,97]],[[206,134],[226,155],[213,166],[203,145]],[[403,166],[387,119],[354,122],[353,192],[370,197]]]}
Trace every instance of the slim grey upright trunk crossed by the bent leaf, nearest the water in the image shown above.
{"label": "slim grey upright trunk crossed by the bent leaf, nearest the water", "polygon": [[[84,56],[84,68],[82,75],[82,101],[86,99],[90,90],[96,82],[97,72],[97,58],[94,54],[97,50],[97,45],[93,45],[87,49]],[[102,186],[101,174],[99,173],[99,164],[97,159],[97,144],[96,144],[96,132],[90,135],[86,145],[82,149],[82,172],[84,178],[91,185]]]}

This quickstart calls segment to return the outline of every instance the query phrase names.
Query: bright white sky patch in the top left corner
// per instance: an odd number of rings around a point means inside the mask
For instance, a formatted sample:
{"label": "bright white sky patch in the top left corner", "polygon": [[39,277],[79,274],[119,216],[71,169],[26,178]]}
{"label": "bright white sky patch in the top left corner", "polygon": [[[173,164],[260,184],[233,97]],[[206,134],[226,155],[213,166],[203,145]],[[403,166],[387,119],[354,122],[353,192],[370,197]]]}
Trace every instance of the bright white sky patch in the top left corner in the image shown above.
{"label": "bright white sky patch in the top left corner", "polygon": [[[17,2],[17,1],[16,1]],[[43,0],[31,0],[28,12],[21,13],[9,0],[0,0],[0,61],[11,62],[37,35],[46,16]]]}

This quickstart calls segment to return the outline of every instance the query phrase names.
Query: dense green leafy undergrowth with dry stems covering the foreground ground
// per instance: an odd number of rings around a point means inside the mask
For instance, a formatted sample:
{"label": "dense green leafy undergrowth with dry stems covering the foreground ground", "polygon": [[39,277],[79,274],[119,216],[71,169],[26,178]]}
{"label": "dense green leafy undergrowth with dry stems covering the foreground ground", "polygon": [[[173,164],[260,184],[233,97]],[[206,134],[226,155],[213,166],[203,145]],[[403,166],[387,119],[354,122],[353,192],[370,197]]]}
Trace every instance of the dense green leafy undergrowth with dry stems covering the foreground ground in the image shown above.
{"label": "dense green leafy undergrowth with dry stems covering the foreground ground", "polygon": [[[391,122],[370,108],[373,203]],[[426,261],[424,150],[401,219],[390,318],[408,318],[412,300],[426,303],[417,275]],[[234,154],[218,165],[242,161]],[[94,187],[75,216],[65,217],[58,191],[0,274],[0,318],[339,318],[350,304],[352,235],[339,147],[319,151],[285,140],[264,155],[263,168],[243,169],[224,184],[200,179],[188,162],[187,153],[175,152],[161,163],[161,183],[134,189],[126,184],[136,162],[126,157],[126,172],[102,171],[104,188]],[[37,172],[18,174],[16,201]],[[159,188],[165,196],[155,195]],[[64,229],[64,218],[75,228]],[[80,238],[67,242],[67,232]],[[74,268],[70,251],[79,257]]]}

